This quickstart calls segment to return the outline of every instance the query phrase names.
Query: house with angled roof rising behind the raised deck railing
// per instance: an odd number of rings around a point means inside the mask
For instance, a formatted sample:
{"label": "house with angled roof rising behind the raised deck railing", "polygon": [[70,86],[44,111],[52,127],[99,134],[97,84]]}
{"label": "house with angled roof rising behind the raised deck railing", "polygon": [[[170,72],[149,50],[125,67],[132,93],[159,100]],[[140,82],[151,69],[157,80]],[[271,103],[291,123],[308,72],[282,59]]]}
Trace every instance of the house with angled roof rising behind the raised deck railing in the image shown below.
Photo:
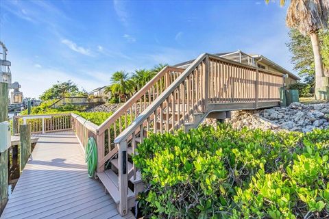
{"label": "house with angled roof rising behind the raised deck railing", "polygon": [[[256,66],[257,64],[258,68],[263,68],[265,70],[270,70],[270,71],[282,73],[284,75],[288,75],[288,77],[284,79],[286,85],[289,85],[291,83],[296,83],[298,80],[300,80],[299,77],[291,73],[289,70],[282,68],[282,66],[269,60],[267,57],[263,55],[251,55],[251,54],[243,53],[243,51],[240,50],[230,53],[216,53],[214,55],[218,55],[220,57],[226,58],[228,60],[232,60],[234,62],[247,64],[249,66]],[[187,68],[193,61],[194,60],[182,62],[180,64],[175,64],[174,66],[180,68]]]}

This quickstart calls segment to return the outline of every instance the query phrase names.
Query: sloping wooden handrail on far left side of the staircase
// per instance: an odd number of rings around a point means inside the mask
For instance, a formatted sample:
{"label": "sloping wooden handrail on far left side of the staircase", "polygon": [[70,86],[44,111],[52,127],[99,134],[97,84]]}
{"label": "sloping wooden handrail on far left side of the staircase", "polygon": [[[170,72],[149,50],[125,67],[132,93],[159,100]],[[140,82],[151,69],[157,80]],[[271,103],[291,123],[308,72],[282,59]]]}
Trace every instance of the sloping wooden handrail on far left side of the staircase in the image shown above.
{"label": "sloping wooden handrail on far left side of the staircase", "polygon": [[112,123],[114,123],[115,120],[117,120],[120,116],[122,116],[124,112],[129,110],[130,107],[132,107],[132,105],[134,103],[136,103],[136,101],[138,101],[145,94],[145,92],[147,92],[147,90],[149,90],[149,88],[154,86],[154,83],[158,82],[158,80],[161,79],[165,73],[168,73],[170,71],[182,72],[183,70],[184,69],[182,69],[182,68],[175,68],[175,67],[171,67],[171,66],[166,66],[166,67],[162,68],[162,70],[160,70],[160,72],[154,78],[152,78],[149,82],[147,82],[145,84],[145,86],[143,86],[143,88],[141,88],[141,90],[138,90],[138,92],[136,92],[136,94],[134,94],[134,96],[132,96],[132,98],[130,98],[127,102],[125,102],[107,120],[105,120],[103,123],[101,123],[101,125],[99,125],[99,128],[97,129],[97,131],[99,133],[102,133],[103,131],[105,131],[109,125],[112,125]]}

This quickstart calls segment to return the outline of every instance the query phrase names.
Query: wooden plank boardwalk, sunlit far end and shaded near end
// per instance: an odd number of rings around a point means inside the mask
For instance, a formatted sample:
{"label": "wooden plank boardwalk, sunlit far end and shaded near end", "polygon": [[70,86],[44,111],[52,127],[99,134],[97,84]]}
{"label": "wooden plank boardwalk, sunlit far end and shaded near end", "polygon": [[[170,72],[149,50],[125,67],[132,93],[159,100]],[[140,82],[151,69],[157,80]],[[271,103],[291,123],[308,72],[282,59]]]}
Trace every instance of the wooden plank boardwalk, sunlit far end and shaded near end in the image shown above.
{"label": "wooden plank boardwalk, sunlit far end and shaded near end", "polygon": [[121,217],[104,192],[89,179],[84,151],[73,131],[40,134],[3,218],[134,218]]}

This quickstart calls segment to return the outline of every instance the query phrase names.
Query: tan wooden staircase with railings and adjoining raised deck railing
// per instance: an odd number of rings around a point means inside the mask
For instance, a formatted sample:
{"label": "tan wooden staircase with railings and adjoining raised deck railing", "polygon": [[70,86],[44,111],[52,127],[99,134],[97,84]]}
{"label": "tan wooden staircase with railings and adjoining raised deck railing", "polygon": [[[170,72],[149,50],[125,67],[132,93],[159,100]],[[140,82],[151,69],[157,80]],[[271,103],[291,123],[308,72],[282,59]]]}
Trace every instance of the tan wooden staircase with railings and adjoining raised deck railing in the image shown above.
{"label": "tan wooden staircase with railings and adjoining raised deck railing", "polygon": [[[132,163],[149,133],[197,127],[207,116],[279,104],[282,74],[202,54],[188,68],[167,66],[87,136],[97,138],[97,177],[125,215],[145,188]],[[224,116],[225,117],[225,116]]]}

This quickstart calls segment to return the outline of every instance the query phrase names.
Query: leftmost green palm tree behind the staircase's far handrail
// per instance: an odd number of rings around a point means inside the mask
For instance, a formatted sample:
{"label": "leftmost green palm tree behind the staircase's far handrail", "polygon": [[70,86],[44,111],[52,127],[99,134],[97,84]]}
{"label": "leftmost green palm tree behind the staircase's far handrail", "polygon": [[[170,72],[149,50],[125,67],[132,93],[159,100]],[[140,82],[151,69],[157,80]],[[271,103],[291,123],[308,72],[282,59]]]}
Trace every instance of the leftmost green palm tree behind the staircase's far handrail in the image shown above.
{"label": "leftmost green palm tree behind the staircase's far handrail", "polygon": [[128,73],[124,70],[117,71],[113,73],[111,77],[111,84],[105,90],[106,93],[112,92],[114,95],[119,96],[119,102],[121,99],[127,99],[129,94],[133,92],[133,84]]}

